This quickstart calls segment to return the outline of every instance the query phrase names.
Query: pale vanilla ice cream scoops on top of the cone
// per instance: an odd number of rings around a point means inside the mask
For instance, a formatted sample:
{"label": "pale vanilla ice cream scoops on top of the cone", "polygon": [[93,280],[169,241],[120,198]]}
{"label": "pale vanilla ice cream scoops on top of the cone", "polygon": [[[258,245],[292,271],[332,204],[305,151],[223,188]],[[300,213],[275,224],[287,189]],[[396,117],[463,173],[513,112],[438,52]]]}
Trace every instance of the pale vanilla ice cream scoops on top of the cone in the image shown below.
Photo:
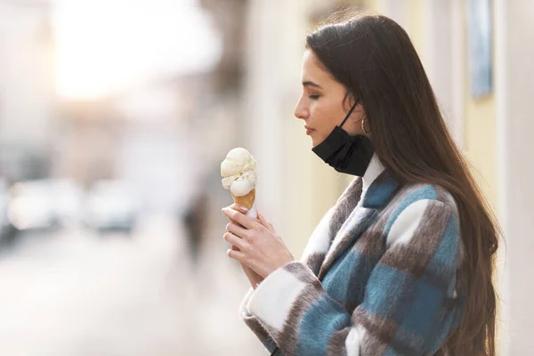
{"label": "pale vanilla ice cream scoops on top of the cone", "polygon": [[231,150],[221,163],[223,187],[235,197],[246,196],[256,186],[255,166],[256,160],[250,152],[240,147]]}

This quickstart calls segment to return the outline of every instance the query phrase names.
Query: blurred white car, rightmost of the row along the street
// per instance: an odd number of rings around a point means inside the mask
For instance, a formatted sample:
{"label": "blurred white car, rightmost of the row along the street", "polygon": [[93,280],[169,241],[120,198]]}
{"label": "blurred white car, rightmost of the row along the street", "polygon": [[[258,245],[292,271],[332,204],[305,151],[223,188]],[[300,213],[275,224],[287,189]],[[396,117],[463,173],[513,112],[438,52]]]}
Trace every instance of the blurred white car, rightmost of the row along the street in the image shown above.
{"label": "blurred white car, rightmost of the row along the street", "polygon": [[99,181],[89,192],[85,223],[96,231],[129,234],[138,215],[137,201],[125,182]]}

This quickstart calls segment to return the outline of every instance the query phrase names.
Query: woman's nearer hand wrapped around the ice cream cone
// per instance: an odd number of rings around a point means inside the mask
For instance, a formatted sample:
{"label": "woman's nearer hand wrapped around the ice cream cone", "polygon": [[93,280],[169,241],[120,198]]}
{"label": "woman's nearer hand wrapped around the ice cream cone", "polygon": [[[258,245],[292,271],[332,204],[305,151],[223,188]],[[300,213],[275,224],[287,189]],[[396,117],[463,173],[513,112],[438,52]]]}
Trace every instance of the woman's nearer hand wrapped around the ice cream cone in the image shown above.
{"label": "woman's nearer hand wrapped around the ice cream cone", "polygon": [[295,261],[272,224],[261,214],[255,219],[229,207],[223,208],[223,214],[235,222],[226,225],[224,239],[239,248],[239,251],[229,249],[229,257],[245,264],[263,278]]}

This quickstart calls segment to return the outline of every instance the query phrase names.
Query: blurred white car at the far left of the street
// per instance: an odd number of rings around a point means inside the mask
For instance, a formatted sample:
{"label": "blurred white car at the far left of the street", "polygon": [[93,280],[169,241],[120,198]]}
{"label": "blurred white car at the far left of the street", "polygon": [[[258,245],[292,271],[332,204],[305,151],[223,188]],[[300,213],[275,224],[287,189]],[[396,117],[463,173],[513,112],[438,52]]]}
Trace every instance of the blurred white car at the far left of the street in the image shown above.
{"label": "blurred white car at the far left of the street", "polygon": [[11,188],[8,218],[18,231],[57,228],[52,185],[47,180],[17,182]]}

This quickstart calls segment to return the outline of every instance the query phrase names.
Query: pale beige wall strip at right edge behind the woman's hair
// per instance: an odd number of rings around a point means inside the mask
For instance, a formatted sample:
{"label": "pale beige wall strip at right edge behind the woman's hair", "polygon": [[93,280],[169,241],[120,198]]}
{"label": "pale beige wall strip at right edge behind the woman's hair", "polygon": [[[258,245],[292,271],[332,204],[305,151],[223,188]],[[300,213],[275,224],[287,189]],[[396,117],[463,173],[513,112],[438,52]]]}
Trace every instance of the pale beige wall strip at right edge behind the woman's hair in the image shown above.
{"label": "pale beige wall strip at right edge behind the woman's hair", "polygon": [[497,15],[499,207],[506,245],[506,355],[532,354],[534,278],[534,2],[494,0]]}

